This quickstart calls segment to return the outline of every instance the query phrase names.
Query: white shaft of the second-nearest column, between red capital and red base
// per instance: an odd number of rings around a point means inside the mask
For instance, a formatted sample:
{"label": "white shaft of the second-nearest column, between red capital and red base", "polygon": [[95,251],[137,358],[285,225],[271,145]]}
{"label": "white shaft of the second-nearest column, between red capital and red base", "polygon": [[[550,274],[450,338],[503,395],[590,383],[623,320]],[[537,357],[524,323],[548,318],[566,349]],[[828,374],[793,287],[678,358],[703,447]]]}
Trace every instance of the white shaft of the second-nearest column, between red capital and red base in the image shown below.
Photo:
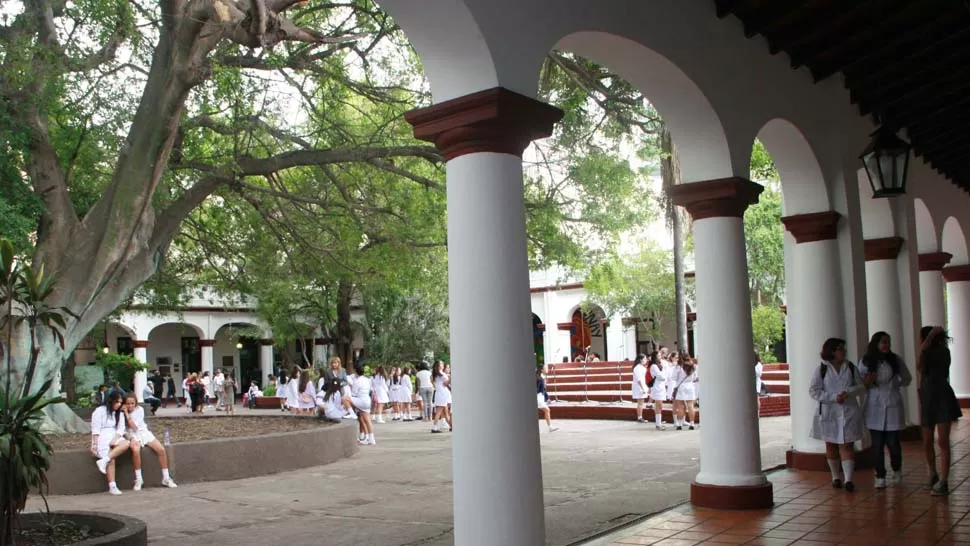
{"label": "white shaft of the second-nearest column, between red capital and red base", "polygon": [[[704,419],[700,484],[765,483],[754,393],[751,301],[740,218],[694,222],[697,308],[717,327],[695,337],[701,355]],[[695,334],[696,336],[697,334]]]}

